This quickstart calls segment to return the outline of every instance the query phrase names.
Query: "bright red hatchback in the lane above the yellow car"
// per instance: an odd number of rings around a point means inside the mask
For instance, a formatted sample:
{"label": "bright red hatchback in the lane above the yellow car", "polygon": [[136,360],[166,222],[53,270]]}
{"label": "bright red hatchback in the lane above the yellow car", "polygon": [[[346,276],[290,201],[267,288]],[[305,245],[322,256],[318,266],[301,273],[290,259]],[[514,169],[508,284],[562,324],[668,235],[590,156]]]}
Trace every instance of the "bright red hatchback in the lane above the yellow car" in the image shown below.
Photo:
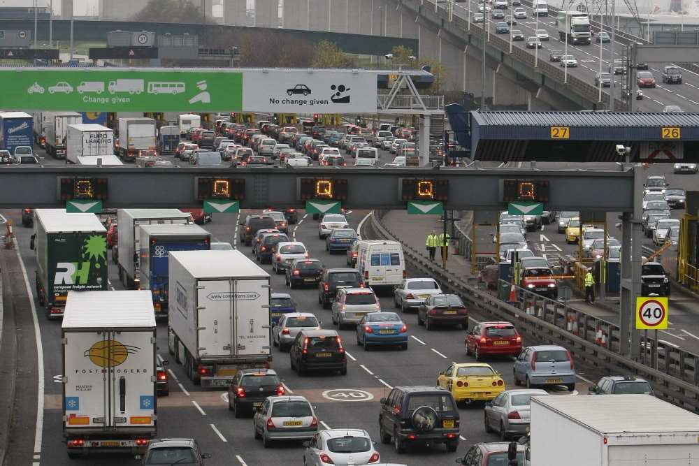
{"label": "bright red hatchback in the lane above the yellow car", "polygon": [[475,356],[517,356],[522,350],[522,337],[510,322],[477,323],[466,335],[466,354]]}

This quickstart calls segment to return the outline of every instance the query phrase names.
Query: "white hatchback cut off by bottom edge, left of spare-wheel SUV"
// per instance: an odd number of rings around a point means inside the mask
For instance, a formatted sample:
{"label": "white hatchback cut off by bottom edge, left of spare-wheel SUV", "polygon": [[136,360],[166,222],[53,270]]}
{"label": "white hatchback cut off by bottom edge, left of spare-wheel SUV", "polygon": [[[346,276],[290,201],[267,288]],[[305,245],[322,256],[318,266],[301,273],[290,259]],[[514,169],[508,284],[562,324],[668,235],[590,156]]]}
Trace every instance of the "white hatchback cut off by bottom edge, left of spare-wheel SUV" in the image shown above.
{"label": "white hatchback cut off by bottom edge, left of spare-wheel SUV", "polygon": [[303,446],[305,466],[367,465],[380,460],[375,442],[362,429],[321,430]]}

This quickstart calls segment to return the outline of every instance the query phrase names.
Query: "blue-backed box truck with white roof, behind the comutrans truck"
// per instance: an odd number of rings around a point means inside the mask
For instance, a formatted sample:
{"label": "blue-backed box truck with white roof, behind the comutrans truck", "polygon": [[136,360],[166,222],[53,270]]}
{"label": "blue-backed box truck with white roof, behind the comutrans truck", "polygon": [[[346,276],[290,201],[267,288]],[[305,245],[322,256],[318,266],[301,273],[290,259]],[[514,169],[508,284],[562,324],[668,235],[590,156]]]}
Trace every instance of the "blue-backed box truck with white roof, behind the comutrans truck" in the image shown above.
{"label": "blue-backed box truck with white roof, behind the comutrans truck", "polygon": [[199,225],[142,225],[140,231],[140,287],[150,290],[157,314],[168,312],[168,254],[211,248],[211,233]]}

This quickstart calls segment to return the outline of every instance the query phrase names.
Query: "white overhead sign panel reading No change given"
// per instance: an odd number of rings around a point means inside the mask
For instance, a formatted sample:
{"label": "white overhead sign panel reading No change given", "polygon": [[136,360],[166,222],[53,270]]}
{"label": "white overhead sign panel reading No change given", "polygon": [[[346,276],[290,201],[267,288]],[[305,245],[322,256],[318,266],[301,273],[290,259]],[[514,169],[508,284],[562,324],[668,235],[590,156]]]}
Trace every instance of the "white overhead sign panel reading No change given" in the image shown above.
{"label": "white overhead sign panel reading No change given", "polygon": [[246,71],[245,111],[375,113],[376,73],[352,70]]}

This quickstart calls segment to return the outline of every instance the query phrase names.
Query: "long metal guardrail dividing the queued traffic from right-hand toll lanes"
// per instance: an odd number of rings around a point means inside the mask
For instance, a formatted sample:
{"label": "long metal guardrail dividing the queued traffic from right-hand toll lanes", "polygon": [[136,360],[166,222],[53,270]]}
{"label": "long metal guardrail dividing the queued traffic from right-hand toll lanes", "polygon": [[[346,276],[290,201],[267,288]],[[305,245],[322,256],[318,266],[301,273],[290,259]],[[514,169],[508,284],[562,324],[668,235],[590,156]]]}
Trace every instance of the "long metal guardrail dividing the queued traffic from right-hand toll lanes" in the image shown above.
{"label": "long metal guardrail dividing the queued traffic from right-hand toll lanes", "polygon": [[[372,212],[370,227],[377,235],[401,242],[406,260],[419,272],[440,282],[442,289],[461,296],[466,303],[497,319],[515,321],[521,330],[540,341],[560,344],[575,358],[603,367],[610,373],[629,373],[643,377],[658,395],[694,412],[699,412],[699,358],[649,338],[642,347],[642,361],[633,361],[615,352],[619,350],[619,327],[614,323],[571,310],[565,303],[549,300],[520,289],[517,305],[480,291],[462,277],[449,273],[438,264],[402,242]],[[508,284],[508,289],[510,285]],[[508,292],[509,293],[509,292]],[[524,307],[522,307],[524,305]],[[652,358],[653,355],[657,355]]]}

